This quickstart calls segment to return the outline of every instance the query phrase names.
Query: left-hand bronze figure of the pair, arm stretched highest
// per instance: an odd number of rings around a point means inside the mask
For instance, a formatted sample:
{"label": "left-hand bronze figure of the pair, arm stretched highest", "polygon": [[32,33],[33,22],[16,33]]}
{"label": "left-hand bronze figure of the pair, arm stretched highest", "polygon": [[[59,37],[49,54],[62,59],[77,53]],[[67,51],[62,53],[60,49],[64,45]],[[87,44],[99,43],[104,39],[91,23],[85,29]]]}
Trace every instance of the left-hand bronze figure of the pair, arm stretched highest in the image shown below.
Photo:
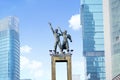
{"label": "left-hand bronze figure of the pair, arm stretched highest", "polygon": [[53,35],[54,35],[54,37],[55,37],[55,44],[54,44],[54,51],[55,51],[55,54],[56,54],[56,50],[57,50],[57,45],[59,46],[59,49],[60,49],[60,51],[62,52],[62,50],[61,50],[61,42],[60,42],[60,36],[61,36],[61,34],[60,33],[58,33],[58,29],[53,29],[52,28],[52,24],[51,23],[48,23],[49,25],[50,25],[50,28],[51,28],[51,30],[52,30],[52,32],[53,32]]}

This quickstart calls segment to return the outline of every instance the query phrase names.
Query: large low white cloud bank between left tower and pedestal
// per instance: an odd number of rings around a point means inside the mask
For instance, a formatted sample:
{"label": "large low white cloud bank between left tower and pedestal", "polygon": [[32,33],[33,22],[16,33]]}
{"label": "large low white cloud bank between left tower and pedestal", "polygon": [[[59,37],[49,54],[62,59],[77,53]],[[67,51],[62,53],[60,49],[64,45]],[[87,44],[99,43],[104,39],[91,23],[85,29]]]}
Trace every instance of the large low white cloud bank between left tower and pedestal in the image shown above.
{"label": "large low white cloud bank between left tower and pedestal", "polygon": [[20,71],[22,78],[30,78],[34,80],[40,80],[44,74],[42,70],[42,62],[30,60],[24,56],[20,56]]}

